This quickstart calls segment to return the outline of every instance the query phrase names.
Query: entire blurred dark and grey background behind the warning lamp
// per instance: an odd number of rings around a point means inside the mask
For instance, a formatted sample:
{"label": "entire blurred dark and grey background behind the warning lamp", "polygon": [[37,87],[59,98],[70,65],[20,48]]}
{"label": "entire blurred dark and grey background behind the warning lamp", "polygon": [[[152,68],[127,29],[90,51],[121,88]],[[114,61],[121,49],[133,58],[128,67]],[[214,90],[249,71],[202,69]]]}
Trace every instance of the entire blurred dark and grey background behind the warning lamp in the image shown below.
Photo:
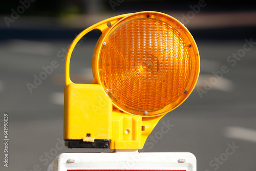
{"label": "entire blurred dark and grey background behind the warning lamp", "polygon": [[[0,9],[3,141],[4,113],[9,116],[9,163],[4,166],[1,143],[0,170],[46,170],[59,153],[92,152],[63,147],[67,49],[91,25],[139,11],[159,11],[180,20],[194,36],[201,58],[194,92],[163,117],[142,151],[191,152],[197,157],[197,170],[256,169],[256,6],[252,1],[21,0],[4,1]],[[74,82],[93,80],[92,54],[100,34],[90,32],[73,52]],[[40,76],[44,80],[38,81]],[[160,130],[166,123],[172,126],[164,134]]]}

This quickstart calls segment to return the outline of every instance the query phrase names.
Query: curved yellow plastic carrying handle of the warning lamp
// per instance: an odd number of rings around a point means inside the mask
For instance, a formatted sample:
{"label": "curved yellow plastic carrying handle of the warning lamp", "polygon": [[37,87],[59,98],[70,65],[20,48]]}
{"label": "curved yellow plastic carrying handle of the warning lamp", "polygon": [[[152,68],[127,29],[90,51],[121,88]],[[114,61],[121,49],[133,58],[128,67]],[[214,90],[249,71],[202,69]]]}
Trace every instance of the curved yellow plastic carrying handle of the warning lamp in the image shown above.
{"label": "curved yellow plastic carrying handle of the warning lamp", "polygon": [[106,24],[110,23],[111,26],[113,26],[118,20],[122,19],[123,17],[130,15],[130,14],[123,14],[123,15],[118,15],[112,18],[105,19],[99,23],[96,23],[95,25],[87,28],[86,30],[83,30],[81,33],[79,33],[76,38],[72,41],[72,44],[69,47],[69,50],[67,52],[66,56],[66,61],[65,61],[65,86],[68,86],[69,84],[72,84],[73,82],[70,79],[70,58],[71,54],[77,44],[77,42],[88,32],[94,30],[94,29],[99,29],[102,32],[102,35],[104,35],[107,31],[110,30],[111,27],[108,27]]}

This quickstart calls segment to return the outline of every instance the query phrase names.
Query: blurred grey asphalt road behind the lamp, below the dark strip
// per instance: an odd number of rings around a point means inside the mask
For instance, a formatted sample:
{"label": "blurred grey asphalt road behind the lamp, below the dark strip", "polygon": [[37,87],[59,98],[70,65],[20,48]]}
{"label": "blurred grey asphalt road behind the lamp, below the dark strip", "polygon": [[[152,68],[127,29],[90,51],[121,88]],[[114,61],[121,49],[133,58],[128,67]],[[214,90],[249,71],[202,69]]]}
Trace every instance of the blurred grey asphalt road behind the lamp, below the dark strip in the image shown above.
{"label": "blurred grey asphalt road behind the lamp, below the dark strip", "polygon": [[[0,41],[2,139],[3,114],[7,112],[9,115],[9,167],[4,167],[2,162],[0,170],[46,170],[61,152],[92,152],[91,149],[67,149],[61,145],[65,72],[62,59],[75,38],[73,32],[65,36],[70,39],[12,38]],[[163,117],[144,150],[191,152],[197,157],[197,170],[254,171],[256,45],[249,45],[248,41],[254,42],[256,37],[194,37],[201,57],[197,88],[179,108]],[[91,62],[96,41],[89,37],[75,49],[71,59],[74,82],[90,83],[93,80]],[[229,57],[233,54],[238,54],[238,59]],[[49,70],[47,78],[30,93],[27,83],[33,83],[35,77],[44,72],[43,68],[51,66],[52,62],[55,68],[52,72]],[[225,73],[223,66],[226,66]],[[206,86],[206,82],[214,80],[217,80],[216,84]],[[207,91],[202,93],[204,88]],[[162,122],[173,125],[166,134],[160,132]],[[228,147],[229,151],[226,150]],[[3,157],[3,143],[0,150]]]}

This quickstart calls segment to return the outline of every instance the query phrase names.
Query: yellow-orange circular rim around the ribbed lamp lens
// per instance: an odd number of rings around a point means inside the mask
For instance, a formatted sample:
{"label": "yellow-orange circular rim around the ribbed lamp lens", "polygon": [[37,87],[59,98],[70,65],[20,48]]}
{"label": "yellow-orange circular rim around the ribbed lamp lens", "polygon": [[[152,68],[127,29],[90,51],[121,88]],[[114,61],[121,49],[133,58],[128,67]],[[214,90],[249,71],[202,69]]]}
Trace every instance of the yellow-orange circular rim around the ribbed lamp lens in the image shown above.
{"label": "yellow-orange circular rim around the ribbed lamp lens", "polygon": [[[148,15],[150,17],[147,17]],[[100,60],[99,58],[100,58],[101,50],[102,50],[102,48],[104,48],[104,46],[108,45],[109,37],[111,36],[113,31],[115,31],[117,29],[117,27],[120,27],[120,25],[127,22],[131,18],[136,19],[136,18],[140,18],[141,16],[144,16],[146,18],[154,17],[154,19],[163,20],[163,22],[169,24],[174,29],[176,29],[179,32],[179,34],[181,34],[182,37],[184,38],[186,45],[189,47],[189,53],[191,55],[190,79],[187,83],[184,93],[182,93],[180,95],[180,97],[177,98],[176,101],[174,101],[171,104],[166,105],[163,109],[156,110],[153,112],[147,112],[147,114],[145,114],[145,111],[137,112],[137,111],[131,110],[129,108],[123,108],[123,106],[119,106],[115,102],[115,100],[113,100],[111,98],[109,91],[108,92],[105,91],[108,88],[106,88],[104,86],[104,83],[103,83],[102,79],[100,78],[100,73],[99,73],[99,60]],[[103,37],[100,39],[99,44],[98,44],[100,46],[98,48],[99,50],[96,52],[96,66],[97,66],[96,77],[99,80],[99,84],[101,84],[102,89],[104,90],[105,94],[112,100],[113,104],[119,110],[121,110],[127,114],[139,115],[142,117],[153,117],[153,116],[163,115],[167,112],[170,112],[170,111],[176,109],[180,104],[182,104],[186,100],[186,98],[191,94],[193,89],[195,88],[196,82],[198,80],[199,72],[200,72],[200,58],[199,58],[198,48],[197,48],[196,42],[195,42],[193,36],[190,34],[190,32],[185,28],[185,26],[183,24],[181,24],[177,19],[173,18],[172,16],[169,16],[167,14],[160,13],[160,12],[154,12],[154,11],[143,11],[143,12],[133,13],[133,14],[127,15],[124,18],[120,19],[115,24],[112,24],[110,30],[108,30],[108,32],[106,32],[106,33],[102,33],[102,36]]]}

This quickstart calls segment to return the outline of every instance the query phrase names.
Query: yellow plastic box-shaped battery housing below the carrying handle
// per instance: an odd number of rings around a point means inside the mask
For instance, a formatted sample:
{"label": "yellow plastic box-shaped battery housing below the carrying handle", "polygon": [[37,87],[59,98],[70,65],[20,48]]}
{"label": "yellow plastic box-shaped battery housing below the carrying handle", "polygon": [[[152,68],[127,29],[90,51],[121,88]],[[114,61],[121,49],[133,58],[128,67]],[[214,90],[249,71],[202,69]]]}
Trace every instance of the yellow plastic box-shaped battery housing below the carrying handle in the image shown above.
{"label": "yellow plastic box-shaped battery housing below the carrying handle", "polygon": [[66,86],[64,112],[65,139],[111,139],[112,102],[99,84]]}

